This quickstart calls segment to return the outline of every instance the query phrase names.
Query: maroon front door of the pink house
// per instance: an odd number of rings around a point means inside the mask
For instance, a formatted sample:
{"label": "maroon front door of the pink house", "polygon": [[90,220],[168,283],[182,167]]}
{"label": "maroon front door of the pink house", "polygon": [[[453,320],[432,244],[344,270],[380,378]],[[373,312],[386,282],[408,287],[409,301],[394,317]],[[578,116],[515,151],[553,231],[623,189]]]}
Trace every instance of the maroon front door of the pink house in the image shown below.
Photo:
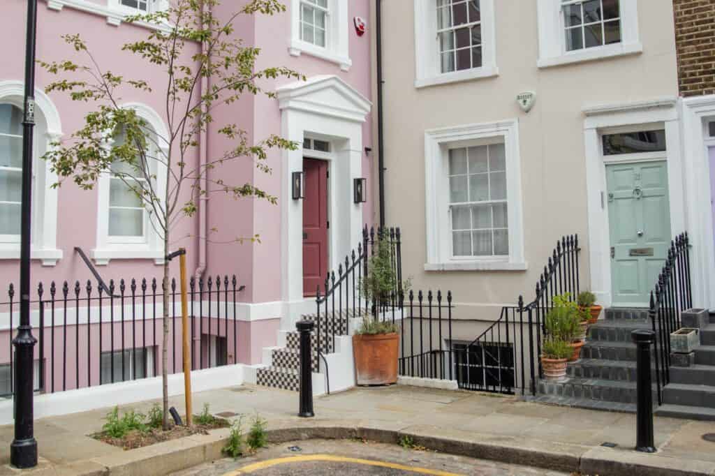
{"label": "maroon front door of the pink house", "polygon": [[303,295],[324,291],[327,273],[327,162],[303,159]]}

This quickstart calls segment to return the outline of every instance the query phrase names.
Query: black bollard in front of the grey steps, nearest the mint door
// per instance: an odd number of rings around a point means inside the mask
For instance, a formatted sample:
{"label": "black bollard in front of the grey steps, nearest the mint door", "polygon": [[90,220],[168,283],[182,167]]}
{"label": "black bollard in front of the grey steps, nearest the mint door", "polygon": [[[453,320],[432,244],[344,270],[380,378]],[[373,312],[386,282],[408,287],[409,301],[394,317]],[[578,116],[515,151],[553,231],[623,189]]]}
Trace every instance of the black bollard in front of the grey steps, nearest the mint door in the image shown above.
{"label": "black bollard in front of the grey steps, nearest the mint door", "polygon": [[638,375],[638,410],[636,415],[636,451],[656,452],[653,434],[653,386],[651,385],[651,344],[656,342],[656,333],[647,329],[631,332],[638,346],[636,372]]}

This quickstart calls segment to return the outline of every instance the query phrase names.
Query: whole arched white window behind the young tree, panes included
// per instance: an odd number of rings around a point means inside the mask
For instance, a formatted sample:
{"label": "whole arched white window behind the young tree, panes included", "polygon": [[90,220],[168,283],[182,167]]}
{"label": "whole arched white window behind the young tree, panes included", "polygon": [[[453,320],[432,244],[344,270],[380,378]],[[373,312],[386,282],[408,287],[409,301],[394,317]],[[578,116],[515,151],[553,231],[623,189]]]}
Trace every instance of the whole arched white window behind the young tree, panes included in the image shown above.
{"label": "whole arched white window behind the young tree, panes included", "polygon": [[[154,259],[163,263],[162,236],[156,221],[156,210],[149,207],[139,194],[151,190],[154,197],[164,197],[166,191],[167,132],[159,115],[143,104],[127,104],[147,123],[147,144],[144,154],[135,162],[115,161],[111,169],[99,178],[97,217],[97,247],[92,257],[97,264],[110,259]],[[117,147],[127,141],[127,132],[114,133],[108,144]],[[146,157],[143,163],[142,157]]]}

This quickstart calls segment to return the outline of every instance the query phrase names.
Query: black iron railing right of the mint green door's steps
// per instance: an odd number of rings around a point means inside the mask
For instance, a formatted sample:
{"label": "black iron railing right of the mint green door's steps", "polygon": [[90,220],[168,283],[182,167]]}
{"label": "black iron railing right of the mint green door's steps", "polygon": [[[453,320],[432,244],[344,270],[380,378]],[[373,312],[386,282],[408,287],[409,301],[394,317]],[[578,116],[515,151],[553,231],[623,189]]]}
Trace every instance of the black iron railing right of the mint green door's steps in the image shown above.
{"label": "black iron railing right of the mint green door's steps", "polygon": [[680,329],[680,314],[693,307],[690,282],[690,242],[679,234],[668,249],[666,264],[651,291],[649,315],[656,333],[655,363],[658,405],[663,405],[663,387],[670,382],[670,334]]}

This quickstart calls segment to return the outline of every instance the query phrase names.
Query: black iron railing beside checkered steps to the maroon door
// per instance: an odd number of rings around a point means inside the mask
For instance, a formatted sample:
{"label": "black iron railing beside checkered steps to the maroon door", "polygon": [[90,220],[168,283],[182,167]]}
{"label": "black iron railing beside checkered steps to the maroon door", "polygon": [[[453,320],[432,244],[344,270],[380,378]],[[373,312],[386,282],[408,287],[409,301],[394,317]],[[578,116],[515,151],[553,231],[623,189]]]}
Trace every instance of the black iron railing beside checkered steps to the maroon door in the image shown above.
{"label": "black iron railing beside checkered steps to the maroon door", "polygon": [[[368,299],[362,291],[363,279],[368,276],[370,258],[378,252],[380,244],[387,245],[390,250],[390,265],[395,275],[395,289],[386,302],[376,302]],[[363,239],[358,243],[358,249],[353,249],[345,261],[341,262],[335,271],[325,277],[324,292],[317,288],[315,334],[317,349],[320,354],[332,352],[335,349],[335,337],[346,335],[350,331],[350,318],[371,314],[374,319],[392,313],[395,317],[395,307],[399,307],[398,296],[402,294],[402,250],[399,228],[363,229]]]}

